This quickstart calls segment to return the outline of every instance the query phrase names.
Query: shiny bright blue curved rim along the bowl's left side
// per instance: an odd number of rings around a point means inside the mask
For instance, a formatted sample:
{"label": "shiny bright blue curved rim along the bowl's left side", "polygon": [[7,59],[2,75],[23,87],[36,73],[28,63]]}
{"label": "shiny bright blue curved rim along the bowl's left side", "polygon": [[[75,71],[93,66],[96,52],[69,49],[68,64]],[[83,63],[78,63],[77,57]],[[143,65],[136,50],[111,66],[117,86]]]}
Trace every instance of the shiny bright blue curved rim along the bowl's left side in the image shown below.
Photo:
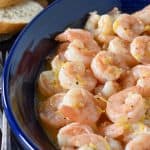
{"label": "shiny bright blue curved rim along the bowl's left side", "polygon": [[9,97],[8,97],[8,89],[7,89],[7,85],[8,85],[8,74],[9,74],[9,64],[10,61],[13,57],[13,54],[15,52],[16,46],[18,45],[19,41],[22,39],[22,37],[24,36],[24,34],[26,33],[26,31],[30,28],[30,26],[32,26],[32,24],[34,22],[36,22],[36,20],[38,18],[40,18],[42,15],[44,15],[50,8],[52,8],[54,5],[56,5],[57,3],[61,2],[63,0],[55,0],[53,1],[47,8],[44,8],[38,15],[36,15],[32,21],[26,25],[24,27],[24,29],[20,32],[20,34],[17,36],[15,42],[13,43],[8,58],[5,62],[4,65],[4,70],[3,70],[3,74],[2,74],[2,93],[1,93],[1,99],[2,99],[2,106],[4,108],[4,112],[6,115],[6,118],[8,120],[8,123],[10,125],[10,128],[12,130],[12,132],[14,133],[14,135],[16,136],[16,138],[19,140],[20,144],[22,146],[24,146],[26,149],[38,149],[38,147],[36,146],[36,144],[34,144],[30,138],[25,134],[25,132],[20,128],[19,124],[17,123],[15,116],[13,115],[12,109],[9,105]]}

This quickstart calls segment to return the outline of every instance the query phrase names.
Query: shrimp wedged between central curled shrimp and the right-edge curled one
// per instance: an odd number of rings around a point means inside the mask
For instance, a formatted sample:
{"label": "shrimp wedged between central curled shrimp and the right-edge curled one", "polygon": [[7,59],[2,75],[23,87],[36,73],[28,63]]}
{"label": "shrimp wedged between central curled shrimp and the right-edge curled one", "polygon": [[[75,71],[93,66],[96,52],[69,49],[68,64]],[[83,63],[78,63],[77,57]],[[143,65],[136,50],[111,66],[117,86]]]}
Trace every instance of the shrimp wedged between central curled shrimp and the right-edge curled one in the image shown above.
{"label": "shrimp wedged between central curled shrimp and the right-edge curled one", "polygon": [[120,60],[122,67],[133,67],[137,64],[137,61],[130,54],[129,43],[118,37],[109,42],[108,50],[116,55],[116,59]]}

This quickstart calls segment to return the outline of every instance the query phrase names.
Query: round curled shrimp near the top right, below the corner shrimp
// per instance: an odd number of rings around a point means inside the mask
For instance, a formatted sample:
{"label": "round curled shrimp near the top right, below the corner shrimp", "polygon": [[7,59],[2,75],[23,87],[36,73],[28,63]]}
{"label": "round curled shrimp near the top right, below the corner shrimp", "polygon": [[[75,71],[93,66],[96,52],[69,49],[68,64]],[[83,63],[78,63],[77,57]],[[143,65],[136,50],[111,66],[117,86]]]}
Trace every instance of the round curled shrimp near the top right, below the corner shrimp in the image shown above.
{"label": "round curled shrimp near the top right, below the corner shrimp", "polygon": [[144,24],[136,17],[121,14],[113,24],[114,32],[126,41],[132,41],[144,31]]}

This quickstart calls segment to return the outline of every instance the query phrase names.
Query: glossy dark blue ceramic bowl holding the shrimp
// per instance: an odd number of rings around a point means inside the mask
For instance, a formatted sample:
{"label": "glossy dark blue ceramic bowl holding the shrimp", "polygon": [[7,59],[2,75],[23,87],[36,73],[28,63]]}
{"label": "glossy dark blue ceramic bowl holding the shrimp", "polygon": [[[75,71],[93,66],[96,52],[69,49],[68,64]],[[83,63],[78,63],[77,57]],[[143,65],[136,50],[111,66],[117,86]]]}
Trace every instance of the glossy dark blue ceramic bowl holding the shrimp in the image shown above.
{"label": "glossy dark blue ceramic bowl holding the shrimp", "polygon": [[46,55],[53,53],[50,38],[67,26],[82,27],[93,10],[106,13],[113,7],[132,12],[150,0],[56,0],[18,36],[3,73],[3,106],[10,127],[24,149],[54,149],[38,124],[34,108],[35,80]]}

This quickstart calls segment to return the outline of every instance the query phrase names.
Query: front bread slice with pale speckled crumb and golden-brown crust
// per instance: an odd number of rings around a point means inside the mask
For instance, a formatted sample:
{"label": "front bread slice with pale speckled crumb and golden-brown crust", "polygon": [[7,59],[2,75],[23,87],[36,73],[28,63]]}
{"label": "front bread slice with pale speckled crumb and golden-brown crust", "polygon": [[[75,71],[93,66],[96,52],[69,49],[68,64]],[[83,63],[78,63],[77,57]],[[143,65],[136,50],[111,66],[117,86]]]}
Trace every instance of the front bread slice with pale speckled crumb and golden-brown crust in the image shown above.
{"label": "front bread slice with pale speckled crumb and golden-brown crust", "polygon": [[29,23],[43,7],[31,0],[0,8],[0,34],[16,33]]}

